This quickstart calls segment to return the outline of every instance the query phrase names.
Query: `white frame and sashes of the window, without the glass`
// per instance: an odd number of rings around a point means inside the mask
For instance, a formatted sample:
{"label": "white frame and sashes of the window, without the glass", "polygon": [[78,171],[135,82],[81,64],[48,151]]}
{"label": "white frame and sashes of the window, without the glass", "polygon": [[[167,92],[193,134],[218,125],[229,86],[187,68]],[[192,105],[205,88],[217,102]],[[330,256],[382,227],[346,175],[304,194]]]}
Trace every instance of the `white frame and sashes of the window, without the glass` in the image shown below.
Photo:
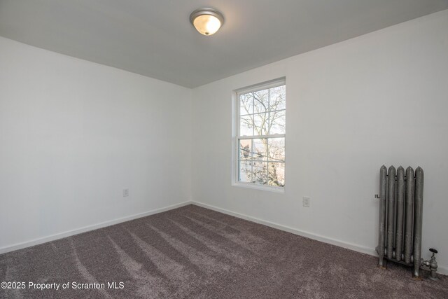
{"label": "white frame and sashes of the window, without the glass", "polygon": [[[239,135],[239,95],[255,92],[258,90],[265,90],[269,88],[276,88],[281,85],[286,85],[286,78],[277,78],[272,81],[267,81],[263,83],[258,83],[255,85],[250,85],[246,88],[239,88],[237,90],[233,90],[232,93],[232,110],[233,110],[233,118],[232,118],[232,186],[235,187],[243,187],[243,188],[252,188],[258,190],[267,190],[276,193],[284,193],[286,188],[286,132],[285,134],[272,134],[272,135],[255,135],[255,136],[240,136]],[[286,97],[287,99],[288,97]],[[285,116],[287,112],[285,109]],[[259,138],[275,138],[275,137],[283,137],[285,139],[285,186],[268,186],[261,185],[257,183],[247,183],[239,181],[239,139],[259,139]]]}

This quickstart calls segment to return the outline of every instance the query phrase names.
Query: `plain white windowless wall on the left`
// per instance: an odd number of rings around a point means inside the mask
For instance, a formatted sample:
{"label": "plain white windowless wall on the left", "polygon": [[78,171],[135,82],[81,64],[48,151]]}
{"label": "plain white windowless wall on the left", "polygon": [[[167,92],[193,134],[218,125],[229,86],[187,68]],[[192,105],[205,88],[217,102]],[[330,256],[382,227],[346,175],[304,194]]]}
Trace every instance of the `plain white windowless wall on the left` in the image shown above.
{"label": "plain white windowless wall on the left", "polygon": [[188,88],[0,38],[0,252],[190,200],[190,124]]}

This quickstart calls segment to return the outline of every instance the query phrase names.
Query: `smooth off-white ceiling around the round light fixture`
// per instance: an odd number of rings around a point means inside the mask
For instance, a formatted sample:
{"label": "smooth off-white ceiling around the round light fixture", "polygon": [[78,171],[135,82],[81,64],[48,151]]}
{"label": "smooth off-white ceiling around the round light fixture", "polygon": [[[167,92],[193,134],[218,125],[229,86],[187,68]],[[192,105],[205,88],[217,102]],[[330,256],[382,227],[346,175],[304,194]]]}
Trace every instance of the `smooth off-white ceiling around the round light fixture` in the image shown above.
{"label": "smooth off-white ceiling around the round light fixture", "polygon": [[[214,36],[190,25],[220,10]],[[0,36],[194,88],[448,8],[448,0],[0,0]]]}

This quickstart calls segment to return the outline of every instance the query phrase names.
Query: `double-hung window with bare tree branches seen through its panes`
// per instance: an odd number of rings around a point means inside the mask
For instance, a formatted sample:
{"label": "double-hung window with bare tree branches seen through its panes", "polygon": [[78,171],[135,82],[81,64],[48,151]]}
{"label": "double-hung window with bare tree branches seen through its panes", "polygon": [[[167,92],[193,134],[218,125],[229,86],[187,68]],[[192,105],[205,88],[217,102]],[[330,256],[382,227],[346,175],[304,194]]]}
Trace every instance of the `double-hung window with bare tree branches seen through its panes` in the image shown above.
{"label": "double-hung window with bare tree branches seen through its panes", "polygon": [[235,183],[285,186],[285,79],[238,90],[236,94]]}

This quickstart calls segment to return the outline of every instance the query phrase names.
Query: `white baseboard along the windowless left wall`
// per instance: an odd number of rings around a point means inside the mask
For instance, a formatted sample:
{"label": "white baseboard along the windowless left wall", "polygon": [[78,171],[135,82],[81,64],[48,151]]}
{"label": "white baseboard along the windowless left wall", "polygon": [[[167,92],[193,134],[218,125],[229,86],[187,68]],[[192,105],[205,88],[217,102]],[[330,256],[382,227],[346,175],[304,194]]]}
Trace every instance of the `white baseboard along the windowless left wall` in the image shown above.
{"label": "white baseboard along the windowless left wall", "polygon": [[69,230],[69,231],[66,231],[66,232],[59,232],[59,233],[57,233],[55,235],[50,235],[50,236],[47,236],[47,237],[41,237],[41,238],[38,238],[38,239],[32,239],[32,240],[27,241],[27,242],[13,244],[13,245],[10,245],[10,246],[4,246],[4,247],[0,248],[0,254],[7,253],[7,252],[10,252],[10,251],[15,251],[15,250],[18,250],[18,249],[23,249],[23,248],[34,246],[34,245],[38,245],[38,244],[43,244],[43,243],[46,243],[46,242],[51,242],[51,241],[54,241],[56,239],[62,239],[64,237],[70,237],[72,235],[78,235],[81,232],[88,232],[90,230],[97,230],[99,228],[105,228],[106,226],[111,226],[111,225],[114,225],[114,224],[118,224],[118,223],[130,221],[130,220],[134,220],[134,219],[137,219],[137,218],[141,218],[141,217],[150,216],[150,215],[153,215],[153,214],[162,213],[162,211],[169,211],[171,209],[176,209],[176,208],[179,208],[179,207],[183,207],[183,206],[186,206],[188,204],[192,204],[192,202],[190,202],[190,201],[181,202],[179,204],[173,204],[173,205],[168,206],[168,207],[163,207],[163,208],[155,209],[155,210],[152,210],[152,211],[146,211],[146,212],[140,213],[140,214],[134,214],[134,215],[126,216],[126,217],[123,217],[123,218],[117,218],[117,219],[113,219],[111,221],[105,221],[105,222],[97,223],[97,224],[94,224],[94,225],[87,225],[87,226],[84,226],[83,228],[77,228],[76,230]]}

